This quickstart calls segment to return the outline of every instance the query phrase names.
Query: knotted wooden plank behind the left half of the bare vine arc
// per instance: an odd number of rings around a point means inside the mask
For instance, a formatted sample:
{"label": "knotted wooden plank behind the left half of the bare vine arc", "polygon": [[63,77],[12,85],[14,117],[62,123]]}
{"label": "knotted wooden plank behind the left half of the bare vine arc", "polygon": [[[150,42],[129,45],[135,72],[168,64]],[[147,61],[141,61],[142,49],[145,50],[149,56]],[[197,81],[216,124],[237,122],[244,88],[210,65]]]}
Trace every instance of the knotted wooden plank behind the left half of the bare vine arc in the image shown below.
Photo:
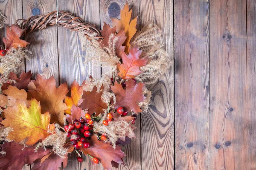
{"label": "knotted wooden plank behind the left half of the bare vine arc", "polygon": [[[56,0],[23,0],[23,17],[25,19],[56,9]],[[49,26],[44,30],[35,31],[29,34],[26,41],[31,43],[28,46],[32,55],[26,60],[26,71],[31,70],[32,78],[35,79],[36,74],[43,74],[49,78],[52,75],[56,79],[56,85],[59,84],[58,71],[58,46],[57,46],[57,28]]]}

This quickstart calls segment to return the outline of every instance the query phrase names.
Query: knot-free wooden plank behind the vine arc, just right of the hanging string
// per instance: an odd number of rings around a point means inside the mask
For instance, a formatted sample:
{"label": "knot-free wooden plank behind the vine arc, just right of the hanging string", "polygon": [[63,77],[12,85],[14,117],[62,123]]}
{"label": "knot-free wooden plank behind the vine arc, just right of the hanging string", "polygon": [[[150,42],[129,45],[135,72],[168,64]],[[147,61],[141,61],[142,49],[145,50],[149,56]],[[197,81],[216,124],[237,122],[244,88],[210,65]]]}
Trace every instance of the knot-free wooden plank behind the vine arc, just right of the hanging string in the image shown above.
{"label": "knot-free wooden plank behind the vine arc, just right of the hanging string", "polygon": [[[86,22],[95,23],[99,27],[99,0],[84,1],[59,1],[59,9],[67,10],[75,16],[81,17]],[[79,84],[92,75],[94,78],[101,77],[101,68],[93,63],[84,64],[86,51],[83,49],[83,37],[77,32],[58,28],[58,51],[60,82],[68,85],[76,79]]]}

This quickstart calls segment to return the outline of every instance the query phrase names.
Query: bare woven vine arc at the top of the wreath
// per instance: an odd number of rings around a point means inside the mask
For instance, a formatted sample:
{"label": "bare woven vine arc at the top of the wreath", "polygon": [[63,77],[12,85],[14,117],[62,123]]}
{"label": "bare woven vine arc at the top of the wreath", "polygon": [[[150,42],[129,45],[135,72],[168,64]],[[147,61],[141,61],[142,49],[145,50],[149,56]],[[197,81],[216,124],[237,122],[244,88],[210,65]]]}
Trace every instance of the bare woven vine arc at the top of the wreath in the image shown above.
{"label": "bare woven vine arc at the top of the wreath", "polygon": [[16,24],[18,24],[21,29],[25,29],[25,36],[37,29],[41,30],[47,26],[57,25],[69,29],[70,31],[78,31],[89,40],[92,38],[102,38],[94,24],[83,22],[81,18],[74,17],[67,11],[52,11],[48,14],[29,17],[27,20],[19,19],[16,21]]}

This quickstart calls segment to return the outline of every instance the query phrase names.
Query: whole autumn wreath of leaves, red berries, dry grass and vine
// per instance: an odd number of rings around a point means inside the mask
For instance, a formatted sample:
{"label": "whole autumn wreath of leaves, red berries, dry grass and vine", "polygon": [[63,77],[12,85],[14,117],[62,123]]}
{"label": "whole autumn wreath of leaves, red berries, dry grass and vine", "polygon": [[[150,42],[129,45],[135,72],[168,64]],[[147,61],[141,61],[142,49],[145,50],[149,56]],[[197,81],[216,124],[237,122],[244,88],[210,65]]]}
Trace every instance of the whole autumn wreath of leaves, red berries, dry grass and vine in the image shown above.
{"label": "whole autumn wreath of leaves, red berries, dry grass and vine", "polygon": [[[4,19],[0,15],[0,26]],[[102,31],[66,11],[17,20],[7,27],[0,51],[1,169],[34,163],[32,169],[58,170],[62,163],[66,167],[72,152],[79,162],[84,154],[107,170],[124,163],[119,144],[135,137],[137,114],[147,111],[151,92],[145,85],[156,82],[170,64],[157,26],[137,31],[136,24],[126,4],[120,20],[113,18],[112,28],[104,23]],[[86,62],[110,67],[112,77],[90,77],[82,85],[75,80],[70,90],[66,83],[56,88],[54,77],[38,74],[31,80],[30,71],[18,78],[14,72],[29,52],[29,43],[20,37],[50,25],[82,34]]]}

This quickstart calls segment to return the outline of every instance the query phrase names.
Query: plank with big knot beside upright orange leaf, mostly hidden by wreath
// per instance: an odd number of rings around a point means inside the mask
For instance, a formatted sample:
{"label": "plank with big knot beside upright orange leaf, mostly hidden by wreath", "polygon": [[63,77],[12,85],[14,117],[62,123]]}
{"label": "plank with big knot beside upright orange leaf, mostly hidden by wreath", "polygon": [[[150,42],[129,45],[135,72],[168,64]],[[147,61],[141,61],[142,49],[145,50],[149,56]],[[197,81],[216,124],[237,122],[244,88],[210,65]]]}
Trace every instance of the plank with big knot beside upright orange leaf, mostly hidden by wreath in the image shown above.
{"label": "plank with big knot beside upright orange leaf, mostly hidden by wreath", "polygon": [[[101,0],[100,1],[100,23],[101,27],[104,22],[112,25],[112,18],[120,19],[120,10],[128,2],[129,8],[133,9],[132,18],[137,17],[139,14],[139,1],[137,0]],[[139,28],[139,21],[137,23],[137,29]],[[102,74],[109,72],[111,69],[107,67],[102,68]],[[111,74],[108,74],[111,76]],[[135,126],[138,128],[135,130],[136,139],[131,139],[131,143],[122,146],[122,151],[127,154],[124,157],[125,166],[120,164],[119,169],[121,170],[140,170],[140,118],[136,120]],[[113,168],[115,169],[115,168]]]}

